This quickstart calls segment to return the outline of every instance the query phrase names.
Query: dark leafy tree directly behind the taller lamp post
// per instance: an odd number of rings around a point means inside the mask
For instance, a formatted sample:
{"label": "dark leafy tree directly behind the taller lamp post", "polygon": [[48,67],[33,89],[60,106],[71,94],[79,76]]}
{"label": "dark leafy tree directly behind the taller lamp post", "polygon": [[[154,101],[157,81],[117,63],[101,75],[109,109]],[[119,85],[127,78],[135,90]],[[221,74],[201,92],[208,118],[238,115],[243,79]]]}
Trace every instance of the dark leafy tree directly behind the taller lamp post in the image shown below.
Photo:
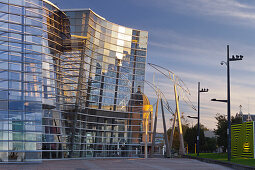
{"label": "dark leafy tree directly behind the taller lamp post", "polygon": [[[217,145],[222,147],[223,152],[227,150],[227,128],[228,121],[225,115],[221,115],[219,113],[216,114],[215,119],[217,120],[216,129],[214,129],[214,133],[216,135]],[[231,117],[232,124],[242,123],[242,118],[239,116]]]}

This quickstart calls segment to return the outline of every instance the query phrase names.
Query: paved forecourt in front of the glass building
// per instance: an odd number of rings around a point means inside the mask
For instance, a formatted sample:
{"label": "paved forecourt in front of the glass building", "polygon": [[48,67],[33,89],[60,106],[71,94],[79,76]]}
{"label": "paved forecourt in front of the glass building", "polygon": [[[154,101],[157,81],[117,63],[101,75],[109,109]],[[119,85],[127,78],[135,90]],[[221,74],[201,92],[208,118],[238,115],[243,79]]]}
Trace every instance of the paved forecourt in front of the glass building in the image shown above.
{"label": "paved forecourt in front of the glass building", "polygon": [[4,170],[229,170],[230,168],[185,158],[96,159],[43,161],[40,164],[0,164]]}

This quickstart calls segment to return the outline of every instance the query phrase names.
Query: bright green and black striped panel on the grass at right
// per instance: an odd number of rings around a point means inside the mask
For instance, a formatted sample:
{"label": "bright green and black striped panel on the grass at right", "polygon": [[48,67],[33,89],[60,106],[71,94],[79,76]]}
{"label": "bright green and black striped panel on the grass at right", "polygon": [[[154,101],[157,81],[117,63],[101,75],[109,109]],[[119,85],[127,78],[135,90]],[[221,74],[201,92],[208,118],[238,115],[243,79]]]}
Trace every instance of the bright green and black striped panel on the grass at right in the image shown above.
{"label": "bright green and black striped panel on the grass at right", "polygon": [[255,158],[254,122],[244,122],[231,126],[231,156]]}

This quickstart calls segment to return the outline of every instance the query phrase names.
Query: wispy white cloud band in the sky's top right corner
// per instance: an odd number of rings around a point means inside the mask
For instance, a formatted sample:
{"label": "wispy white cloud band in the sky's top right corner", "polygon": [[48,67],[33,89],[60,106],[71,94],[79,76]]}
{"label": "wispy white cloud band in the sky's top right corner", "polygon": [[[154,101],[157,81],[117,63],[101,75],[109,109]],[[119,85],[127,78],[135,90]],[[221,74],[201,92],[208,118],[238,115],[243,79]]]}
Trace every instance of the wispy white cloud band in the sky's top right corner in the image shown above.
{"label": "wispy white cloud band in the sky's top right corner", "polygon": [[[153,7],[166,15],[173,13],[221,24],[255,27],[255,2],[238,0],[140,0],[136,5]],[[152,6],[153,5],[153,6]]]}

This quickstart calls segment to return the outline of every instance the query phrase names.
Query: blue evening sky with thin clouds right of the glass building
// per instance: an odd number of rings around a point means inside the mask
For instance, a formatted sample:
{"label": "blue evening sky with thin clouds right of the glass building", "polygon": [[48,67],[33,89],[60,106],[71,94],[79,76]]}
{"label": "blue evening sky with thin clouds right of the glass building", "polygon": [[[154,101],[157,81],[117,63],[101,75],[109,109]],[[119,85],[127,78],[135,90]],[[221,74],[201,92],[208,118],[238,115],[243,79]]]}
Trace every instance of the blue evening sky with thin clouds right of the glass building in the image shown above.
{"label": "blue evening sky with thin clouds right of the glass building", "polygon": [[[108,21],[149,33],[147,62],[163,66],[180,77],[191,92],[197,106],[197,83],[208,88],[201,94],[201,123],[213,130],[217,113],[227,114],[226,47],[230,55],[243,55],[242,61],[230,63],[231,114],[242,111],[255,113],[255,1],[249,0],[51,0],[61,9],[90,8]],[[175,110],[173,83],[146,66],[146,80],[155,82]],[[145,86],[152,104],[156,96]],[[184,116],[196,116],[189,105],[181,101]],[[159,120],[161,118],[159,113]],[[172,115],[166,112],[167,127]],[[188,119],[190,125],[196,120]],[[162,132],[162,122],[158,121]]]}

